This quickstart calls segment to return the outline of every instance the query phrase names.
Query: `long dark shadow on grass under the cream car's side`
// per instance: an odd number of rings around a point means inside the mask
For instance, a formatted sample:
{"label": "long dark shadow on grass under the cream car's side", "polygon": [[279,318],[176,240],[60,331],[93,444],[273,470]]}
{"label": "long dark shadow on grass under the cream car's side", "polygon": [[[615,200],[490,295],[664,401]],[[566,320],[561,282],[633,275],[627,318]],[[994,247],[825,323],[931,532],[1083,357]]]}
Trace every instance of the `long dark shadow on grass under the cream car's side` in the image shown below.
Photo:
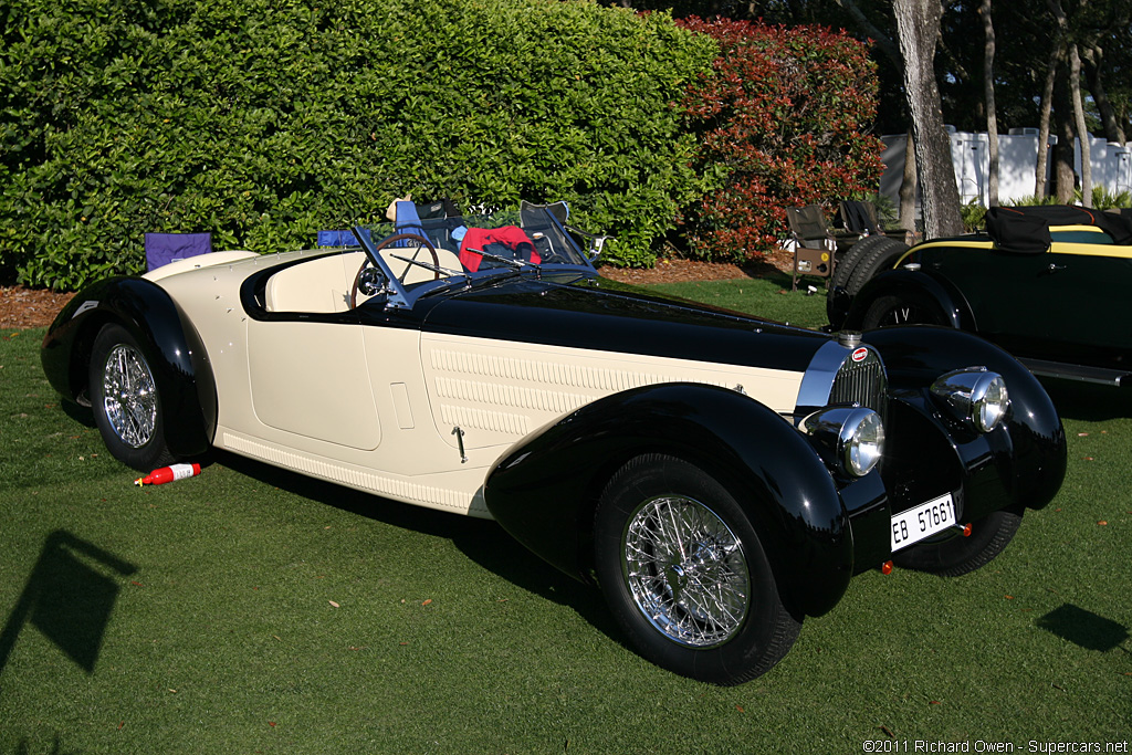
{"label": "long dark shadow on grass under the cream car's side", "polygon": [[628,647],[597,587],[583,584],[550,566],[494,521],[402,504],[223,451],[213,452],[213,461],[258,482],[325,506],[403,530],[451,540],[461,552],[484,569],[540,598],[572,608],[594,628]]}

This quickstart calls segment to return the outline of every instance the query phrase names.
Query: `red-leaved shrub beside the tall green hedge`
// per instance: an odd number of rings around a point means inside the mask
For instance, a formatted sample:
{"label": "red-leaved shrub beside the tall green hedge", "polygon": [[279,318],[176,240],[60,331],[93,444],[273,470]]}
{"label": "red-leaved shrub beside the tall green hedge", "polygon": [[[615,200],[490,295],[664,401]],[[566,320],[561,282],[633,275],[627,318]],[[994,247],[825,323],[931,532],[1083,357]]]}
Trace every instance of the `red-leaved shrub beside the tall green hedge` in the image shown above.
{"label": "red-leaved shrub beside the tall green hedge", "polygon": [[702,258],[762,257],[787,232],[786,208],[876,190],[881,140],[875,65],[865,44],[824,27],[689,18],[720,46],[713,70],[687,89],[696,168],[713,188],[683,215]]}

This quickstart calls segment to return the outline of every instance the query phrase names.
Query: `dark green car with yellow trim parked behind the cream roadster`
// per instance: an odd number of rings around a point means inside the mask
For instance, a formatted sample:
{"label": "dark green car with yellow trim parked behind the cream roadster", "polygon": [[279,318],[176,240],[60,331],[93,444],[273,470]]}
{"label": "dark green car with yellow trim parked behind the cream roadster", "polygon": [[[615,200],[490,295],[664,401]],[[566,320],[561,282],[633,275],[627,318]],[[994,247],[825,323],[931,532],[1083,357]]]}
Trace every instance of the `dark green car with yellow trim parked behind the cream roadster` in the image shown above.
{"label": "dark green car with yellow trim parked behind the cream roadster", "polygon": [[1132,216],[995,207],[987,232],[908,248],[869,237],[838,268],[831,327],[976,333],[1037,375],[1132,385]]}

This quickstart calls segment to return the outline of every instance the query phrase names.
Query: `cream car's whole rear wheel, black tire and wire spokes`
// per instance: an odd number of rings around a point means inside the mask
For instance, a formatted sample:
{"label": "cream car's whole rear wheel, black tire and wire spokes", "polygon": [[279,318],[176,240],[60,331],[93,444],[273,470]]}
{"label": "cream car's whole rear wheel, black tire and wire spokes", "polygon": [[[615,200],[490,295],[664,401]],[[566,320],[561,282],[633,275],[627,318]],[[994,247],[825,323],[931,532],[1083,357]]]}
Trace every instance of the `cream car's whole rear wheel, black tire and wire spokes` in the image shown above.
{"label": "cream car's whole rear wheel, black tire and wire spokes", "polygon": [[94,421],[114,458],[143,472],[175,461],[153,369],[126,328],[111,324],[98,332],[88,377]]}

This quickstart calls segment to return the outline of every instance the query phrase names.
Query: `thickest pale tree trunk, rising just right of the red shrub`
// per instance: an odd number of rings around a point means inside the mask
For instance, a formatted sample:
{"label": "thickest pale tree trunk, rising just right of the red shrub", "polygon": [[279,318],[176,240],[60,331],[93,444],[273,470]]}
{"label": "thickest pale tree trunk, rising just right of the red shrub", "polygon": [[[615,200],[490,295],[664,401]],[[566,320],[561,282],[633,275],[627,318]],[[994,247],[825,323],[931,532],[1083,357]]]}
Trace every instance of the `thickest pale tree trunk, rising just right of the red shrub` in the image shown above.
{"label": "thickest pale tree trunk, rising just right of the red shrub", "polygon": [[943,6],[940,0],[895,0],[893,12],[904,59],[904,92],[911,113],[916,170],[921,177],[924,238],[955,235],[963,230],[959,188],[932,65]]}

